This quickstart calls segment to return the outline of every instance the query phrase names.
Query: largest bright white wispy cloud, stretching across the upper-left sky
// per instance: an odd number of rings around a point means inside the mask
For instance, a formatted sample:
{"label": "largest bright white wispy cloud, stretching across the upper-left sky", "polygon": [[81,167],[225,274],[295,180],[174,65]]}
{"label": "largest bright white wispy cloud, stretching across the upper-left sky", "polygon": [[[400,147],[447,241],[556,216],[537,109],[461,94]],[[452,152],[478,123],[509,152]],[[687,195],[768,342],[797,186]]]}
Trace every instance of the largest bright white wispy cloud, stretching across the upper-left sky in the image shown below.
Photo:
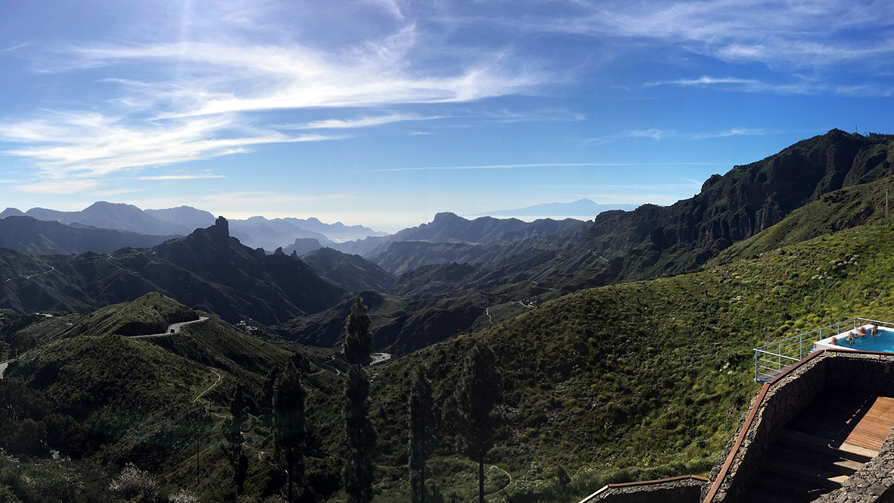
{"label": "largest bright white wispy cloud, stretching across the upper-left sky", "polygon": [[479,55],[449,72],[415,71],[408,59],[416,46],[416,28],[409,25],[378,42],[341,52],[297,44],[187,42],[74,47],[70,53],[71,65],[80,67],[143,62],[170,72],[171,63],[177,62],[201,70],[205,76],[198,79],[171,74],[131,85],[140,103],[173,106],[162,116],[465,102],[532,89],[546,79],[528,68],[507,67],[499,53]]}

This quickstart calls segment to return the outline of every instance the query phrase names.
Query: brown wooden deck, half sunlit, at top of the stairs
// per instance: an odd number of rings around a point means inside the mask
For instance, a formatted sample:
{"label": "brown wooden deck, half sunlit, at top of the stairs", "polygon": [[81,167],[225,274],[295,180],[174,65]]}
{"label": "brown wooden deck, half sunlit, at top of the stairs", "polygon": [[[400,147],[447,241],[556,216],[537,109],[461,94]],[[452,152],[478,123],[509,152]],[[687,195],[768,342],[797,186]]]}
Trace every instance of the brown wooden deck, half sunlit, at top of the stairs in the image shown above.
{"label": "brown wooden deck, half sunlit, at top of the stairs", "polygon": [[829,390],[798,413],[788,428],[875,452],[894,427],[894,398]]}

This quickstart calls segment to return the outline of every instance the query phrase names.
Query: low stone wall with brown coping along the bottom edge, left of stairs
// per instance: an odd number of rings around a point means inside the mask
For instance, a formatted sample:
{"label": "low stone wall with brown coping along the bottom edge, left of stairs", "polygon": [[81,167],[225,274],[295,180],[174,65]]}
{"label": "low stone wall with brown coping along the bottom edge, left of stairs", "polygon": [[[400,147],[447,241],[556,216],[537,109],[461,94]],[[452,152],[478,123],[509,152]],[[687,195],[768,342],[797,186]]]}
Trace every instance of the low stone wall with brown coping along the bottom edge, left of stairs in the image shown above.
{"label": "low stone wall with brown coping along the bottom edge, left of stairs", "polygon": [[662,481],[609,484],[580,503],[699,503],[708,479],[688,475]]}

